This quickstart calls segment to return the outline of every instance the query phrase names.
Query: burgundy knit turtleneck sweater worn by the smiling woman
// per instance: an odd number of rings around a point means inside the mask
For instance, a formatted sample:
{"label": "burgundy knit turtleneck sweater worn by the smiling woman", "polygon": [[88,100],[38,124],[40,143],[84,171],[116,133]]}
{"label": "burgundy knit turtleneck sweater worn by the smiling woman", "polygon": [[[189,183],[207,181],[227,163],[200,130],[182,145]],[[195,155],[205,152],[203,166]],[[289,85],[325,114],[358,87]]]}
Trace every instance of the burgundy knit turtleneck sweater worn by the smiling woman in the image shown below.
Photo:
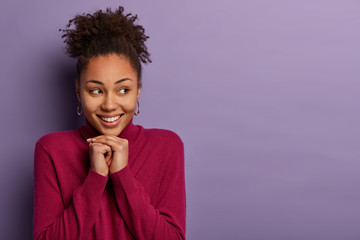
{"label": "burgundy knit turtleneck sweater worn by the smiling woman", "polygon": [[34,239],[185,239],[184,148],[173,132],[132,122],[129,164],[104,177],[89,168],[86,124],[36,143]]}

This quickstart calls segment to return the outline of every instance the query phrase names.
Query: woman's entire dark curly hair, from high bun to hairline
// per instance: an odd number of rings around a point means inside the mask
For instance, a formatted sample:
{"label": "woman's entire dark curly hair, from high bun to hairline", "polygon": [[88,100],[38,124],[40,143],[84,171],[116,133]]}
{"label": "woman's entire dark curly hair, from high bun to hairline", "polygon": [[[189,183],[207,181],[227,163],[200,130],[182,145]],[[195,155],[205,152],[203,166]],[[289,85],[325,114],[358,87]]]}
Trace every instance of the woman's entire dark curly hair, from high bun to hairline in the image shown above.
{"label": "woman's entire dark curly hair, from high bun to hairline", "polygon": [[116,11],[107,8],[93,14],[76,15],[65,29],[59,30],[63,32],[67,53],[78,60],[77,81],[91,58],[116,53],[130,60],[141,87],[141,62],[149,63],[151,59],[145,45],[149,37],[141,25],[135,24],[137,18],[137,15],[125,15],[120,6]]}

